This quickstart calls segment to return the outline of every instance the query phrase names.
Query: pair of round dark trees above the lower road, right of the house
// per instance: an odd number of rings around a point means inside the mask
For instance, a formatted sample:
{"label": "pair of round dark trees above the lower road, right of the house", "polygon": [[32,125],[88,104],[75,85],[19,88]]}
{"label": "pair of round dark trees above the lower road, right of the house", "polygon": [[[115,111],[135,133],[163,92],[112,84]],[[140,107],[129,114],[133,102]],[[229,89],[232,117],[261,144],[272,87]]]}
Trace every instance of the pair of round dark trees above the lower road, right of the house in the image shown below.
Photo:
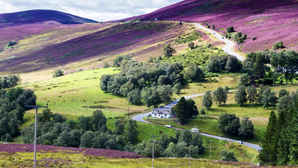
{"label": "pair of round dark trees above the lower road, right of the house", "polygon": [[254,125],[249,117],[244,117],[240,123],[239,117],[236,117],[235,114],[220,114],[217,128],[228,136],[239,136],[244,139],[254,136]]}

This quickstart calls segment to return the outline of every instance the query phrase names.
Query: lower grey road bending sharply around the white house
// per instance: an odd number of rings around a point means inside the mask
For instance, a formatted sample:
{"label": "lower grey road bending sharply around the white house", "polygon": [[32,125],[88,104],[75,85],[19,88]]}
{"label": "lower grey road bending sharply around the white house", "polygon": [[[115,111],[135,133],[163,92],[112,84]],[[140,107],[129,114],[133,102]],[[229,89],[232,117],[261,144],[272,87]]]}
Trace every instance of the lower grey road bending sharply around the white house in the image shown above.
{"label": "lower grey road bending sharply around the white house", "polygon": [[[237,91],[237,90],[230,90],[228,92],[232,92],[232,91]],[[184,98],[185,99],[189,99],[189,98],[192,98],[192,97],[197,97],[197,96],[203,96],[203,94],[193,94],[193,95],[189,95],[189,96],[185,96]],[[179,99],[167,104],[165,107],[172,107],[174,106],[175,104],[177,104],[179,101]],[[131,117],[131,119],[133,120],[137,120],[137,121],[140,121],[140,122],[145,122],[145,123],[150,123],[150,124],[155,124],[155,125],[160,125],[160,124],[156,124],[156,123],[151,123],[149,121],[146,121],[143,119],[143,117],[146,117],[148,116],[149,114],[151,114],[151,112],[147,112],[147,113],[144,113],[144,114],[139,114],[139,115],[135,115],[133,117]],[[163,126],[163,125],[160,125],[160,126]],[[175,127],[172,127],[173,129],[179,129],[179,130],[184,130],[184,129],[181,129],[181,128],[175,128]],[[205,134],[205,133],[199,133],[200,135],[203,135],[203,136],[207,136],[207,137],[211,137],[211,138],[215,138],[215,139],[220,139],[220,140],[227,140],[227,141],[230,141],[230,142],[239,142],[238,140],[233,140],[233,139],[229,139],[229,138],[224,138],[224,137],[219,137],[219,136],[215,136],[215,135],[210,135],[210,134]],[[260,146],[258,145],[255,145],[255,144],[252,144],[252,143],[248,143],[248,142],[243,142],[243,145],[245,146],[248,146],[248,147],[251,147],[251,148],[254,148],[256,150],[260,150],[262,149]]]}

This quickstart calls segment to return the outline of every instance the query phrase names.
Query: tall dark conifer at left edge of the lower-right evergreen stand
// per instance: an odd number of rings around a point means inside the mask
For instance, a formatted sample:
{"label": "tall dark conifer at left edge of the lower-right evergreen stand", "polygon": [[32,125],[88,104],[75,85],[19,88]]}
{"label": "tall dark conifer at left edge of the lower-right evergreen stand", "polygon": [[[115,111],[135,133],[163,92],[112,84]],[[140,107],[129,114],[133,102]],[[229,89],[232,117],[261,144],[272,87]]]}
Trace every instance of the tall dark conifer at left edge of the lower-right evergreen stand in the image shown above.
{"label": "tall dark conifer at left edge of the lower-right evergreen stand", "polygon": [[266,129],[266,132],[264,133],[264,138],[262,140],[262,149],[260,150],[260,153],[258,155],[260,159],[260,164],[264,165],[267,163],[272,162],[272,157],[274,157],[274,153],[276,152],[272,148],[272,143],[274,142],[274,133],[276,129],[276,115],[274,111],[271,111],[268,126]]}

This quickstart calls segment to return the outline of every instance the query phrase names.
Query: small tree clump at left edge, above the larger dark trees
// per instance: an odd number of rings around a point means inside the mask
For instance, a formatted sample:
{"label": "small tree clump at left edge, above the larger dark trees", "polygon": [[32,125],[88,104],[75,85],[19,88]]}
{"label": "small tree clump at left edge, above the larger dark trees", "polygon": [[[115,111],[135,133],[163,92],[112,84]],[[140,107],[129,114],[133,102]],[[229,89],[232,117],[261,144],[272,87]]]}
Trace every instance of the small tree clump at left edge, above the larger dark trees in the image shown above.
{"label": "small tree clump at left edge, above the larger dark trees", "polygon": [[15,87],[20,85],[21,82],[22,79],[20,75],[8,75],[0,77],[0,90]]}

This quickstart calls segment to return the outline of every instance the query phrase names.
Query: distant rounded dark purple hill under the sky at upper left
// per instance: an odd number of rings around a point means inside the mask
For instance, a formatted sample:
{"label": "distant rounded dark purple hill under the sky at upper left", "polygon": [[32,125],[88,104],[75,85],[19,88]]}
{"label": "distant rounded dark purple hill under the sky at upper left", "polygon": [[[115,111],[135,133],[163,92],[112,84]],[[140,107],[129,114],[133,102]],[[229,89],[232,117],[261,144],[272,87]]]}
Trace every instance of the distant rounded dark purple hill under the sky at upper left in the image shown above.
{"label": "distant rounded dark purple hill under the sky at upper left", "polygon": [[97,21],[59,12],[56,10],[27,10],[15,13],[0,14],[0,28],[31,24],[81,24]]}

